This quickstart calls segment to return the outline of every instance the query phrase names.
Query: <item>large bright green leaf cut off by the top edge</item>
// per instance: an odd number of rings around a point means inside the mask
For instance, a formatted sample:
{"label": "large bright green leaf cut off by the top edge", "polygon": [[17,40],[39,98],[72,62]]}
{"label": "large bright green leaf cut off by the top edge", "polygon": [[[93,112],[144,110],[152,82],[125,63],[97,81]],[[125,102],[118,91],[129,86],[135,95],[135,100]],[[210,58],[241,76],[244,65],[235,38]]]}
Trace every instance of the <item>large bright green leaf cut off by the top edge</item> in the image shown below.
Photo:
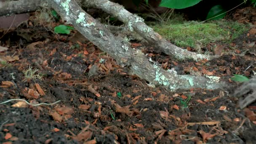
{"label": "large bright green leaf cut off by the top edge", "polygon": [[162,0],[159,6],[182,9],[196,5],[201,0]]}

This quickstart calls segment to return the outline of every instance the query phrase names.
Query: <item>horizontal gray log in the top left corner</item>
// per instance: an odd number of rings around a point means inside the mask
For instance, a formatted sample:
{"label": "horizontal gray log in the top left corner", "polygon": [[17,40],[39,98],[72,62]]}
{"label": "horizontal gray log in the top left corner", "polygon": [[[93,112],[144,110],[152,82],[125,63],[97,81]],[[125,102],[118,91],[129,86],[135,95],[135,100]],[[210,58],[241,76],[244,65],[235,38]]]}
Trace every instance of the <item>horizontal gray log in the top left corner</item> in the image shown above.
{"label": "horizontal gray log in the top left corner", "polygon": [[16,0],[0,2],[0,16],[36,11],[43,0]]}

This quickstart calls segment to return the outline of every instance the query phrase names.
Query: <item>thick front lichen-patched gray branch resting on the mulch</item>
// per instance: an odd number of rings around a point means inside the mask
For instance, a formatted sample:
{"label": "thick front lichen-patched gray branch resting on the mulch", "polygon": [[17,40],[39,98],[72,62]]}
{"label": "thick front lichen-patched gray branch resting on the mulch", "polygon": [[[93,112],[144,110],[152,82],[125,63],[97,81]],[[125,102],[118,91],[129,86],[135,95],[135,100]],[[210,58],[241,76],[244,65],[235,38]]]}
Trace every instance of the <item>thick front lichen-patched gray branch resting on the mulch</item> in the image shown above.
{"label": "thick front lichen-patched gray branch resting on the mulch", "polygon": [[165,71],[150,62],[141,51],[135,51],[118,40],[104,25],[83,11],[74,0],[48,0],[48,3],[62,19],[67,20],[102,51],[109,53],[119,64],[130,67],[136,75],[153,85],[163,85],[171,91],[190,88],[216,89],[225,85],[218,83],[217,77],[177,75],[174,70]]}

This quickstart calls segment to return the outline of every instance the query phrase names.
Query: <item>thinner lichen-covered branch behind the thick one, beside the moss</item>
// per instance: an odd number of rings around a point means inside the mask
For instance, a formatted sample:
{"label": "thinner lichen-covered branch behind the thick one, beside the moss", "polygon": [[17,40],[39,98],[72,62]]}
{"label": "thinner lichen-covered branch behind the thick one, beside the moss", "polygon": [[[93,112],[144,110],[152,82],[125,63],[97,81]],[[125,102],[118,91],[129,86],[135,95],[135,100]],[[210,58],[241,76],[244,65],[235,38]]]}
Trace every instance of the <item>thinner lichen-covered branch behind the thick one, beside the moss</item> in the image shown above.
{"label": "thinner lichen-covered branch behind the thick one, beside the moss", "polygon": [[91,5],[93,7],[100,8],[107,13],[111,13],[113,16],[117,17],[117,19],[127,24],[131,31],[134,30],[141,35],[141,37],[144,37],[149,43],[154,44],[156,48],[167,55],[176,57],[180,60],[193,59],[196,61],[199,59],[210,60],[219,57],[192,53],[169,43],[152,28],[148,27],[143,22],[142,18],[125,10],[123,6],[117,3],[112,3],[109,0],[85,0],[84,3],[84,5]]}

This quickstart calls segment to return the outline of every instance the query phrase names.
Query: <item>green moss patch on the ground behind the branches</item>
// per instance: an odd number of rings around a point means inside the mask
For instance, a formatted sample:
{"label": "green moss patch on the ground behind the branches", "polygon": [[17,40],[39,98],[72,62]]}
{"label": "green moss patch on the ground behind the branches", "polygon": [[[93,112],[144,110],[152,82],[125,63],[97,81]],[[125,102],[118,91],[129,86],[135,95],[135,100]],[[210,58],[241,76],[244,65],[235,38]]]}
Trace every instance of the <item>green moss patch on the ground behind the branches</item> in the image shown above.
{"label": "green moss patch on the ground behind the branches", "polygon": [[165,24],[154,24],[151,27],[179,47],[189,46],[197,49],[216,41],[229,43],[247,32],[250,25],[226,20],[207,23],[169,21]]}

